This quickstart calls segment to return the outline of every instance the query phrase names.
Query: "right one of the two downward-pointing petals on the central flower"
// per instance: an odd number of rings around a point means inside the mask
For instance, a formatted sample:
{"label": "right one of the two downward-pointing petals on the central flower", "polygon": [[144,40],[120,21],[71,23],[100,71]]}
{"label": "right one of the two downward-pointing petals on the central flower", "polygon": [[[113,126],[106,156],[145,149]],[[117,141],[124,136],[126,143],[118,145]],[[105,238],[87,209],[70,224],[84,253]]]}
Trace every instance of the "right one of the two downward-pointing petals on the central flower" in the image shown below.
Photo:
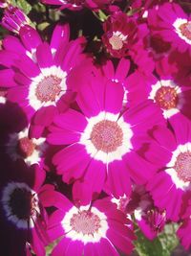
{"label": "right one of the two downward-pointing petals on the central flower", "polygon": [[108,165],[104,190],[115,198],[130,195],[132,191],[128,168],[123,161],[113,161]]}

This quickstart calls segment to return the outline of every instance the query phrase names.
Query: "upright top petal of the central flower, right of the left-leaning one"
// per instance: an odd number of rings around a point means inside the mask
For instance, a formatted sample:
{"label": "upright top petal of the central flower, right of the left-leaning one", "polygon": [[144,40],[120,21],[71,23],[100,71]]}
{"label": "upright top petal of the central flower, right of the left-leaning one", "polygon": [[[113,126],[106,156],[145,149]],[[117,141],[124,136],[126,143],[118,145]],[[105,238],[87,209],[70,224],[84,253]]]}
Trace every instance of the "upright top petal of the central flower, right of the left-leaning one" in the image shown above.
{"label": "upright top petal of the central flower, right of the left-leaning one", "polygon": [[119,114],[122,108],[124,89],[120,83],[108,81],[105,87],[105,111]]}

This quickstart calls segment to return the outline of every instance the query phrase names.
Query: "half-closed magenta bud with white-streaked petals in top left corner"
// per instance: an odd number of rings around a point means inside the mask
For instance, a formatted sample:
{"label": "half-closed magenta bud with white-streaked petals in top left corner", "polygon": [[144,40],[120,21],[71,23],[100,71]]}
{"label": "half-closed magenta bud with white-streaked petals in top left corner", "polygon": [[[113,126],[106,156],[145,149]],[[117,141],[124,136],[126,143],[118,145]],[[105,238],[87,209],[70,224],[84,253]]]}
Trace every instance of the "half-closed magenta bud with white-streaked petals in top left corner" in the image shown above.
{"label": "half-closed magenta bud with white-streaked petals in top left corner", "polygon": [[1,25],[7,30],[19,33],[21,26],[30,25],[28,16],[17,7],[11,5],[5,9]]}

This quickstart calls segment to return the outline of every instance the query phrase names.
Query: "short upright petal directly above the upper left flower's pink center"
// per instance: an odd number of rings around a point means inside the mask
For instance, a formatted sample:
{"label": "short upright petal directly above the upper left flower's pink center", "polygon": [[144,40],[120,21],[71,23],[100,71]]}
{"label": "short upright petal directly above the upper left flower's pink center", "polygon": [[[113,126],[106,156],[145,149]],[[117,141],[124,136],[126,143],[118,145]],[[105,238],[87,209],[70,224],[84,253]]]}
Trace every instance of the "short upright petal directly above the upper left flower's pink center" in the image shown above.
{"label": "short upright petal directly above the upper left flower's pink center", "polygon": [[36,49],[36,58],[42,73],[43,68],[53,66],[53,55],[47,42],[38,45]]}

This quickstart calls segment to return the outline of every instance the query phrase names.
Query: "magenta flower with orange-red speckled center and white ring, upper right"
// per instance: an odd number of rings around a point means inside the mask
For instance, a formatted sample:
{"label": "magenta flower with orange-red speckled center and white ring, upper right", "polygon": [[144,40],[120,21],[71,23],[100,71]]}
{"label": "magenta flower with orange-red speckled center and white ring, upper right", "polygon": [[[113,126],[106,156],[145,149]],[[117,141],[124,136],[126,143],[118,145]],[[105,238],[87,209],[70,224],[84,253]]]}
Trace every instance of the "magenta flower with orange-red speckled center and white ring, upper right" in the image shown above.
{"label": "magenta flower with orange-red speckled center and white ring, upper right", "polygon": [[188,78],[177,80],[172,76],[172,65],[162,61],[160,76],[151,73],[143,74],[141,70],[135,71],[127,78],[127,84],[136,91],[141,91],[141,99],[150,99],[159,105],[165,119],[177,113],[182,113],[191,119],[191,87]]}

